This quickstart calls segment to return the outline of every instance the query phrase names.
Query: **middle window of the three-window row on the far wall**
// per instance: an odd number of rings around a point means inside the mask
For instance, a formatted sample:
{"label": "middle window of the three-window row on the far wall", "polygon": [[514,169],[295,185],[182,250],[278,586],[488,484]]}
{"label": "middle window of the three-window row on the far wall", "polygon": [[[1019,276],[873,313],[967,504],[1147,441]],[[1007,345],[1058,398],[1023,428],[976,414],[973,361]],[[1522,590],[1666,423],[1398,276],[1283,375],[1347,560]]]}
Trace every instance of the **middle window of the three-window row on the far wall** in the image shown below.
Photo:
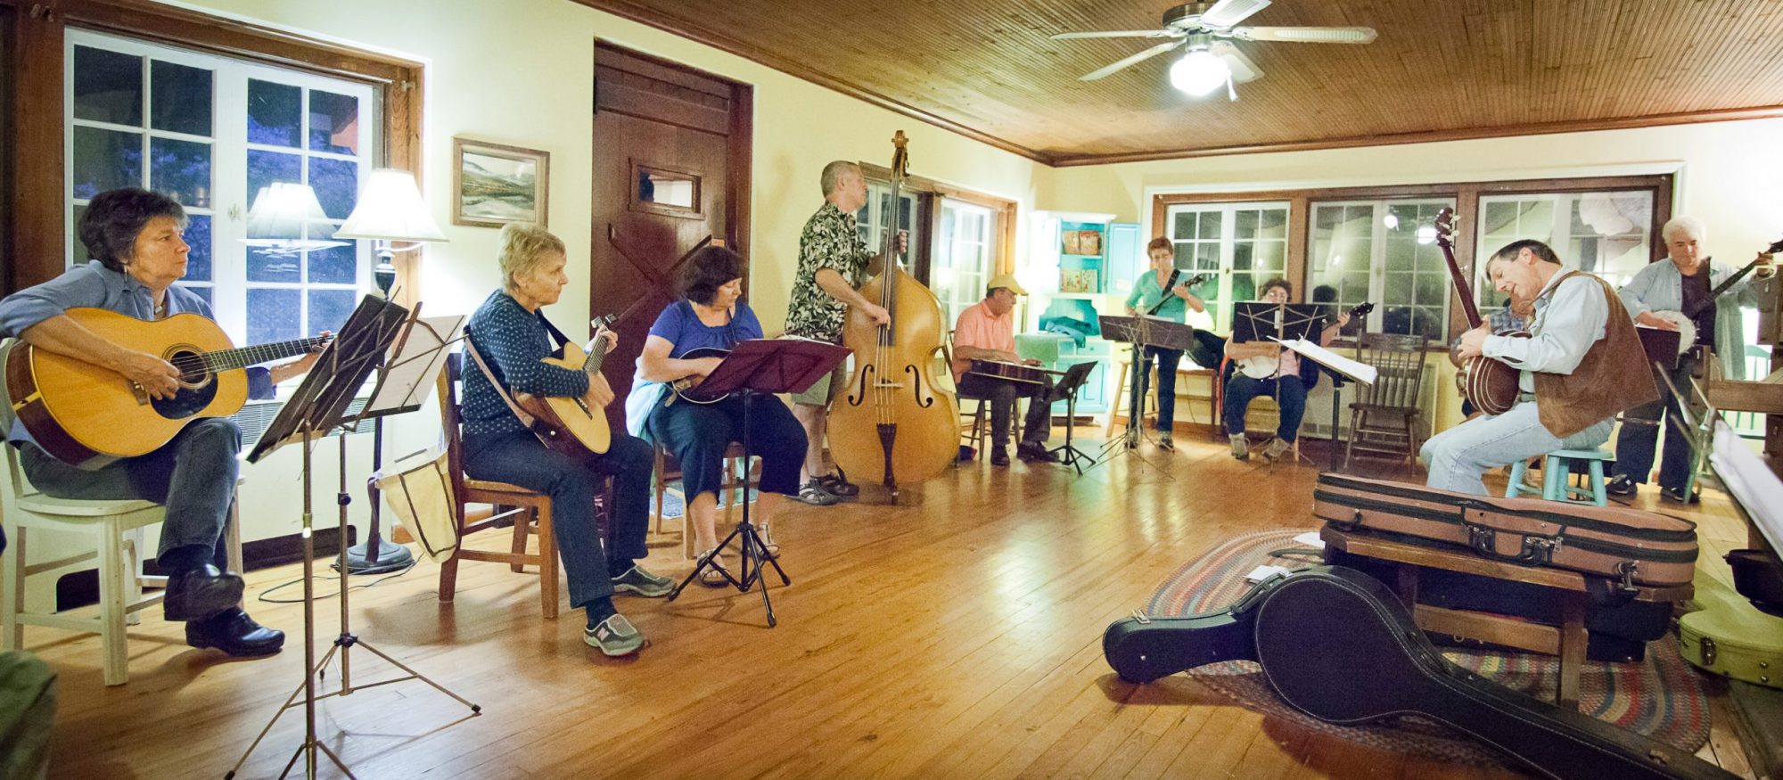
{"label": "middle window of the three-window row on the far wall", "polygon": [[1375,301],[1368,329],[1442,340],[1451,280],[1435,224],[1453,198],[1312,203],[1311,303],[1348,310]]}

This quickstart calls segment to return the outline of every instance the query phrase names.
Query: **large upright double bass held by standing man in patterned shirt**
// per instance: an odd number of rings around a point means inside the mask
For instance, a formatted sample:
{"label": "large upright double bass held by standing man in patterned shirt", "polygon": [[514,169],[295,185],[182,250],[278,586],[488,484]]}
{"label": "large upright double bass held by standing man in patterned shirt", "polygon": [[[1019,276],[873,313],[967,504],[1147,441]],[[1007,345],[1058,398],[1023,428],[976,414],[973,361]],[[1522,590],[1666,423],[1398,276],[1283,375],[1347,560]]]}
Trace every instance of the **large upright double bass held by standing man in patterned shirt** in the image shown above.
{"label": "large upright double bass held by standing man in patterned shirt", "polygon": [[[908,171],[904,142],[899,130],[892,139],[888,203],[899,201]],[[861,285],[861,297],[877,301],[890,322],[877,324],[859,308],[849,310],[842,344],[854,351],[854,376],[829,413],[836,465],[877,475],[893,504],[900,484],[940,474],[959,454],[959,404],[934,381],[947,333],[941,301],[899,267],[895,228],[895,223],[886,226],[884,271]]]}

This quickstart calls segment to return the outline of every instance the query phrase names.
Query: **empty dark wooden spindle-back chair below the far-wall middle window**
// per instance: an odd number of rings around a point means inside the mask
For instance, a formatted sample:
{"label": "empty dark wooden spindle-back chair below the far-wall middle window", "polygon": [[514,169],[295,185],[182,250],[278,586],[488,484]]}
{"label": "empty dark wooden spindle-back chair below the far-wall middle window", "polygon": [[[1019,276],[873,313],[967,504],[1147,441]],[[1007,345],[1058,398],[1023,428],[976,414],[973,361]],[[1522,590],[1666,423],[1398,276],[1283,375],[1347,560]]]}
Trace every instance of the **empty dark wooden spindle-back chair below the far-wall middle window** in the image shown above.
{"label": "empty dark wooden spindle-back chair below the far-wall middle window", "polygon": [[1417,402],[1423,397],[1425,345],[1421,335],[1362,333],[1362,363],[1373,365],[1380,376],[1375,385],[1357,385],[1357,401],[1350,404],[1350,443],[1343,463],[1357,452],[1384,452],[1417,458]]}

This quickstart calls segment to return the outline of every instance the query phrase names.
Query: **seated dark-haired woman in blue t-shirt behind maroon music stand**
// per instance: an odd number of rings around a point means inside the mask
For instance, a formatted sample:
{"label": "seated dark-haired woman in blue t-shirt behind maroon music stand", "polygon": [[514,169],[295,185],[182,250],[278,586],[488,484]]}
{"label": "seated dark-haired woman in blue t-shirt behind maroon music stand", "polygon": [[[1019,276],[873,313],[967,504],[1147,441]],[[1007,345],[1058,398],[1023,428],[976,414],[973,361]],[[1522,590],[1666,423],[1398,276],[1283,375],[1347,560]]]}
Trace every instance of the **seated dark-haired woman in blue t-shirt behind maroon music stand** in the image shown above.
{"label": "seated dark-haired woman in blue t-shirt behind maroon music stand", "polygon": [[[686,260],[681,276],[681,299],[663,308],[651,326],[638,356],[638,379],[674,383],[685,378],[704,378],[722,358],[683,358],[686,353],[717,347],[731,349],[745,338],[761,338],[761,322],[744,294],[744,260],[735,251],[708,246]],[[704,559],[719,547],[713,520],[719,509],[724,451],[744,438],[744,399],[733,395],[713,404],[695,404],[674,399],[661,386],[635,388],[649,402],[638,410],[644,429],[663,443],[681,461],[681,493],[686,497],[686,516],[692,522],[694,548]],[[628,415],[629,417],[629,415]],[[779,554],[779,545],[768,536],[768,522],[781,504],[781,495],[799,493],[799,467],[804,461],[804,427],[792,417],[786,404],[760,399],[749,408],[749,449],[761,458],[760,500],[751,520],[760,525],[768,554]],[[724,575],[711,568],[701,572],[701,584],[722,586]]]}

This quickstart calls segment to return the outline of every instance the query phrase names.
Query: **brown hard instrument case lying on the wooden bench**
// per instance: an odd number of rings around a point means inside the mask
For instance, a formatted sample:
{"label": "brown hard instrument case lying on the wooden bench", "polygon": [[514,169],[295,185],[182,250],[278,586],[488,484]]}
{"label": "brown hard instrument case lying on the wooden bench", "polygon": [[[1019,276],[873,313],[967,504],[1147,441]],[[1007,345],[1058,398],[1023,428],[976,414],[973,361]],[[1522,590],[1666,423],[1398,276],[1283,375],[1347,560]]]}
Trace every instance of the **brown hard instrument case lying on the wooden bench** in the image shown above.
{"label": "brown hard instrument case lying on the wooden bench", "polygon": [[1555,566],[1631,586],[1696,577],[1696,524],[1621,506],[1498,499],[1421,484],[1319,474],[1312,513],[1344,531],[1469,548],[1523,566]]}

